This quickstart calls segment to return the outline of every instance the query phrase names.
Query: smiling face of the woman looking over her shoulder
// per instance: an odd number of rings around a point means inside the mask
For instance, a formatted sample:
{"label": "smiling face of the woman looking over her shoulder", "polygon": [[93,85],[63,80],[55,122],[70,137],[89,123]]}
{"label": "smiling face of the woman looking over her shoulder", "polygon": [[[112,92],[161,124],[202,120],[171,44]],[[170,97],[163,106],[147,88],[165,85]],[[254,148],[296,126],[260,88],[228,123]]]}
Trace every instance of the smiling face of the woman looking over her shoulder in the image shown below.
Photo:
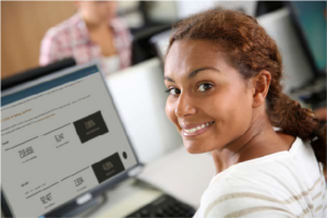
{"label": "smiling face of the woman looking over her shoulder", "polygon": [[190,153],[221,149],[250,129],[254,89],[205,40],[174,41],[165,63],[166,113]]}

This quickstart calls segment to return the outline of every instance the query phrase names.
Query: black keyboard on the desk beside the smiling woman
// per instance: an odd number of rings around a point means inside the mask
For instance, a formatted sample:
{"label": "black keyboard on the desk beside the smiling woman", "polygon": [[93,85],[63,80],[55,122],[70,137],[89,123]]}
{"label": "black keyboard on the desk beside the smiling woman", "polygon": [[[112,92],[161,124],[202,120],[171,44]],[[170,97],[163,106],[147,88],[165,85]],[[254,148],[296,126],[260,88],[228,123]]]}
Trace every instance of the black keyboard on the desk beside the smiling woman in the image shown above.
{"label": "black keyboard on the desk beside the smiling woman", "polygon": [[192,218],[195,209],[172,196],[162,195],[125,218]]}

